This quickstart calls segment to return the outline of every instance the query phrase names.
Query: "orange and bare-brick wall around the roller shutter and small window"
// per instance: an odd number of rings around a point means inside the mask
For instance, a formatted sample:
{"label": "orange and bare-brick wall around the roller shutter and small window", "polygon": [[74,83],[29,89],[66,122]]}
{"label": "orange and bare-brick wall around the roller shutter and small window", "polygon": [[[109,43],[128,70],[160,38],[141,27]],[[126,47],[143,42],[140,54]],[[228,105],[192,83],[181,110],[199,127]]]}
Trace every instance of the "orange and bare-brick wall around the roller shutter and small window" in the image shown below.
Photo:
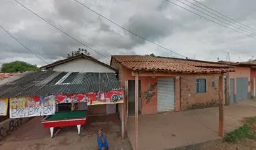
{"label": "orange and bare-brick wall around the roller shutter and small window", "polygon": [[[115,63],[112,60],[112,66],[119,69],[119,81],[122,87],[125,87],[126,80],[134,80],[131,69],[122,67],[120,64]],[[143,74],[143,73],[142,73]],[[174,78],[181,76],[180,78],[180,97],[176,97],[176,102],[179,101],[180,105],[176,106],[176,109],[187,110],[196,109],[202,107],[212,107],[218,104],[219,91],[218,91],[218,77],[220,74],[202,74],[202,75],[183,75],[183,74],[168,74],[166,78]],[[215,86],[211,87],[211,78],[215,78]],[[158,78],[164,78],[164,74],[161,77],[151,78],[139,76],[141,80],[141,114],[156,114],[157,113],[157,86],[154,89],[154,96],[152,96],[150,103],[146,103],[147,100],[143,98],[143,92],[150,88],[151,85],[157,83]],[[206,79],[206,93],[196,93],[196,79]],[[177,81],[177,79],[176,79]],[[178,86],[178,84],[176,84]],[[177,88],[177,87],[176,87]],[[176,93],[178,94],[178,93]],[[178,99],[178,100],[177,100]],[[126,102],[125,102],[126,106]],[[125,107],[127,109],[127,107]],[[179,110],[176,110],[179,111]]]}

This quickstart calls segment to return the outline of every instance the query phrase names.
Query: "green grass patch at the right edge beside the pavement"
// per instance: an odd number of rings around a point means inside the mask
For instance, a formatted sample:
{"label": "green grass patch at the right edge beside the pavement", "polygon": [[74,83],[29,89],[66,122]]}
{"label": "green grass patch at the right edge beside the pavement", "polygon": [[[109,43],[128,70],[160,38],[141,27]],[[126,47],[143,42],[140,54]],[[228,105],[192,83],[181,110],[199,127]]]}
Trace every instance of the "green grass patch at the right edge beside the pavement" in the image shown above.
{"label": "green grass patch at the right edge beside the pavement", "polygon": [[245,124],[243,124],[243,126],[240,126],[240,128],[228,133],[225,136],[224,141],[237,143],[238,140],[245,138],[256,140],[256,134],[252,128],[254,123],[256,123],[256,117],[247,118]]}

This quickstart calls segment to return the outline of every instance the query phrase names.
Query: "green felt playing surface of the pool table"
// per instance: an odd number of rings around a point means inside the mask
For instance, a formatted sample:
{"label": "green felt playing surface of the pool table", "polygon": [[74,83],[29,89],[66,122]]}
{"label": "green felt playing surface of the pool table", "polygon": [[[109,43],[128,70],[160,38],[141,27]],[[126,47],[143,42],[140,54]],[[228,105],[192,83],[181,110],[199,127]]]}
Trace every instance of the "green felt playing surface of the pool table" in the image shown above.
{"label": "green felt playing surface of the pool table", "polygon": [[70,119],[70,118],[85,118],[87,116],[87,111],[65,111],[55,113],[46,120],[58,120],[58,119]]}

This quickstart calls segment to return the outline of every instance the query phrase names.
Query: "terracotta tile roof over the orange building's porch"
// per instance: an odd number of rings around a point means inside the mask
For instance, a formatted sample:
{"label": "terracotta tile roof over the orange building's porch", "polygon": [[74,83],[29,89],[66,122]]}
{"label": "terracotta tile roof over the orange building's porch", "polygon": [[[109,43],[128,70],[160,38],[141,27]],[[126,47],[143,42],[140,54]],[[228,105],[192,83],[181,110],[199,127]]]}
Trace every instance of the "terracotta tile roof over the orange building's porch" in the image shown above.
{"label": "terracotta tile roof over the orange building's porch", "polygon": [[151,56],[112,56],[117,63],[133,71],[160,71],[170,73],[223,73],[233,71],[232,66],[191,59]]}

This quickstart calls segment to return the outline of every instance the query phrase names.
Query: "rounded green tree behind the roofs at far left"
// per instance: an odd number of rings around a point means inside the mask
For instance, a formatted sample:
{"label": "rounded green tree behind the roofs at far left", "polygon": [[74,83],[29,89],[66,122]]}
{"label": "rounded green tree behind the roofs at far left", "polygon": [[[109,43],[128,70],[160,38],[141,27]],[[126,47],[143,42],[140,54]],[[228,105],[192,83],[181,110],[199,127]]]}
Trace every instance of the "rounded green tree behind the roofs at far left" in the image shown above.
{"label": "rounded green tree behind the roofs at far left", "polygon": [[24,71],[40,71],[40,69],[36,65],[32,65],[23,61],[4,63],[1,68],[1,72],[3,73],[22,73]]}

